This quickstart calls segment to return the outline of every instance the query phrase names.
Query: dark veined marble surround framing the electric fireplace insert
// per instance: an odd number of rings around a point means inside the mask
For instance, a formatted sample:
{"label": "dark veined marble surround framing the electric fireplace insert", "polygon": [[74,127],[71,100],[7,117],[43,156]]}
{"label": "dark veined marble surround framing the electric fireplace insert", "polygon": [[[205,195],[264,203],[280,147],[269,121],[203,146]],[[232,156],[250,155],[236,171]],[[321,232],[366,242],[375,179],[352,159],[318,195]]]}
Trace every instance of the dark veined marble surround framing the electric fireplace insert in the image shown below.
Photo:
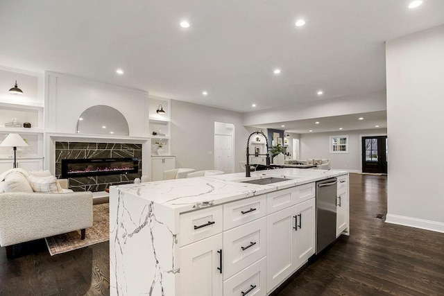
{"label": "dark veined marble surround framing the electric fireplace insert", "polygon": [[139,173],[70,177],[69,189],[74,191],[104,191],[111,185],[133,183],[142,175],[142,144],[56,141],[56,177],[62,173],[62,159],[92,159],[137,157]]}

